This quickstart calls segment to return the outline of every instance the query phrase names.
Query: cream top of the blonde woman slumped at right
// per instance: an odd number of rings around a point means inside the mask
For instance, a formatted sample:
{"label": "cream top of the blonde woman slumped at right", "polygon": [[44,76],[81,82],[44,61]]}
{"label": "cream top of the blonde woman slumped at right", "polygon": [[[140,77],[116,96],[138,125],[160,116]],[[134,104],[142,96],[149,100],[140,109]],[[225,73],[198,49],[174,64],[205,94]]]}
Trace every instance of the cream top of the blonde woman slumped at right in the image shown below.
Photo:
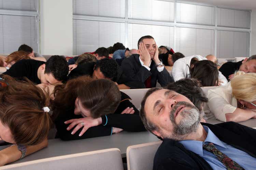
{"label": "cream top of the blonde woman slumped at right", "polygon": [[216,119],[226,122],[226,113],[233,113],[237,109],[237,99],[232,95],[230,82],[225,86],[219,86],[208,90],[208,102],[204,105],[204,118]]}

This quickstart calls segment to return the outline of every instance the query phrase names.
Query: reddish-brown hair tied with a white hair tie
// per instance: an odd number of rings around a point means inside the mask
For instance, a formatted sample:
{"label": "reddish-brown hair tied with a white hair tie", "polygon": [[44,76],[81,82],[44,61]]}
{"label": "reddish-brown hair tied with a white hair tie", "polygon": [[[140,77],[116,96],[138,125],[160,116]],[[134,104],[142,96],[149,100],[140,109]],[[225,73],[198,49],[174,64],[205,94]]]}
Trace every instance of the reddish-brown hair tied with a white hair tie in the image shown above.
{"label": "reddish-brown hair tied with a white hair tie", "polygon": [[19,145],[37,145],[47,138],[51,118],[43,107],[48,106],[49,98],[43,90],[25,78],[15,81],[2,75],[7,86],[0,86],[0,120],[11,131]]}

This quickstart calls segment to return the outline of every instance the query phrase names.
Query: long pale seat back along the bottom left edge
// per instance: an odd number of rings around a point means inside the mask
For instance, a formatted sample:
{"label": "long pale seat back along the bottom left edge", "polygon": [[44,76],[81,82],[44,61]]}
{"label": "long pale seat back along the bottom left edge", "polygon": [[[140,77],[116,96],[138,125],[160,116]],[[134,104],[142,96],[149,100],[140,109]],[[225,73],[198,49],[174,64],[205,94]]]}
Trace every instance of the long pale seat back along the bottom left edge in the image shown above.
{"label": "long pale seat back along the bottom left edge", "polygon": [[[72,147],[72,146],[67,146]],[[73,146],[75,147],[75,146]],[[32,156],[32,155],[31,155]],[[24,163],[6,165],[0,169],[12,170],[124,170],[120,150],[117,148],[77,153]]]}

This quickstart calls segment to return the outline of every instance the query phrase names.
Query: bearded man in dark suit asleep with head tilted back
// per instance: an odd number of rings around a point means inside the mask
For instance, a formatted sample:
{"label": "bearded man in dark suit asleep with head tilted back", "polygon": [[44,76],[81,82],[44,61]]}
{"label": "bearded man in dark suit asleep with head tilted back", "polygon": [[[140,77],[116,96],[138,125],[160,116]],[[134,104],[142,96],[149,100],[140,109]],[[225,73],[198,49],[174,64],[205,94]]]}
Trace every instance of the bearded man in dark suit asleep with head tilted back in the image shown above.
{"label": "bearded man in dark suit asleep with head tilted back", "polygon": [[154,170],[255,169],[256,130],[238,123],[200,123],[200,114],[185,96],[151,88],[141,102],[145,128],[163,140]]}

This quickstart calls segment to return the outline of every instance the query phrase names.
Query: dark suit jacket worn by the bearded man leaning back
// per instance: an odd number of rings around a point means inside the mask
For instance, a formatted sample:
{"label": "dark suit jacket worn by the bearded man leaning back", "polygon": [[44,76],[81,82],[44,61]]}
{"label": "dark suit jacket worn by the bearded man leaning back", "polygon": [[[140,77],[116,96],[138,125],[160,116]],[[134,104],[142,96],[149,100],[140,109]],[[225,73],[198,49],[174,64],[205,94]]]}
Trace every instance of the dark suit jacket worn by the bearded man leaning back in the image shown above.
{"label": "dark suit jacket worn by the bearded man leaning back", "polygon": [[[219,140],[240,149],[256,158],[256,130],[235,122],[219,124],[201,123],[208,126]],[[171,139],[163,139],[154,158],[153,170],[168,169],[212,169],[199,155]]]}

